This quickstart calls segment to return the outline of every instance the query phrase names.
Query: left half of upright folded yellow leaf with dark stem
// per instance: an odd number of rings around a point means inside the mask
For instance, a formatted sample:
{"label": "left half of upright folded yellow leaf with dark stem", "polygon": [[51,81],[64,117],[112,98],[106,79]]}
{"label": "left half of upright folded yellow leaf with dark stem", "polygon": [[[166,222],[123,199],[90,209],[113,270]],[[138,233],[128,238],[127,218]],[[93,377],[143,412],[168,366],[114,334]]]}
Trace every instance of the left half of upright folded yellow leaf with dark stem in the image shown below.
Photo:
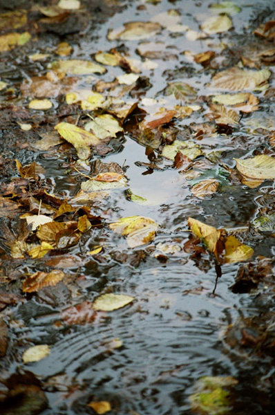
{"label": "left half of upright folded yellow leaf with dark stem", "polygon": [[189,228],[196,237],[202,239],[210,252],[216,253],[217,243],[221,237],[222,230],[214,228],[214,226],[205,225],[193,218],[188,218]]}

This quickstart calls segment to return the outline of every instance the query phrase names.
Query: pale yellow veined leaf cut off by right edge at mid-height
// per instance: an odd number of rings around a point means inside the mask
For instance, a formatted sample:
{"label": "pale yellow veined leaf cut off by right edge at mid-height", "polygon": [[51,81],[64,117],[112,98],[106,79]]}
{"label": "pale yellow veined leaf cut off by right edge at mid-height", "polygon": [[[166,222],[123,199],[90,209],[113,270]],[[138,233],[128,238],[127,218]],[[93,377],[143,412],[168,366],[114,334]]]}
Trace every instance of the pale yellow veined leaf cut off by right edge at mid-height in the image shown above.
{"label": "pale yellow veined leaf cut off by right edge at mid-height", "polygon": [[275,178],[274,157],[262,154],[261,156],[246,158],[245,160],[240,158],[234,158],[234,160],[236,160],[236,168],[244,176],[258,180]]}

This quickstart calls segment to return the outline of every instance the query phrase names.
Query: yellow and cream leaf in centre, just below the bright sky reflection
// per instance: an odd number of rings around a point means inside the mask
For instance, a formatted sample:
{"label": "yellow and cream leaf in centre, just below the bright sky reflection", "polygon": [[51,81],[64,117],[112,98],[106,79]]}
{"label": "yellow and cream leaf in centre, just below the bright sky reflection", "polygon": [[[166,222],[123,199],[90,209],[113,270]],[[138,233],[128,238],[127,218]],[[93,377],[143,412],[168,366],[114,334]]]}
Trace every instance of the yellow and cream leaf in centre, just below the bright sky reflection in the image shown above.
{"label": "yellow and cream leaf in centre, just below the bright sky reflection", "polygon": [[158,229],[158,224],[153,219],[144,216],[128,216],[109,226],[114,232],[126,236],[131,248],[153,241],[155,230]]}

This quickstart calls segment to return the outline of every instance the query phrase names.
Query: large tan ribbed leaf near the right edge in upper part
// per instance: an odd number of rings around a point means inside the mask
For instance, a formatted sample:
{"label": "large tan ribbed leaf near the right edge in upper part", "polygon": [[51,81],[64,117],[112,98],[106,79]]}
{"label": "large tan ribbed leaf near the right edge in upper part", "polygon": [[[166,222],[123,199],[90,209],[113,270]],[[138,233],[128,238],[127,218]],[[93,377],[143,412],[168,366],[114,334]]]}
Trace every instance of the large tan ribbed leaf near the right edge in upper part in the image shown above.
{"label": "large tan ribbed leaf near the right edge in upper part", "polygon": [[225,91],[255,90],[266,84],[270,75],[271,72],[268,69],[253,71],[234,67],[217,73],[212,78],[210,86]]}

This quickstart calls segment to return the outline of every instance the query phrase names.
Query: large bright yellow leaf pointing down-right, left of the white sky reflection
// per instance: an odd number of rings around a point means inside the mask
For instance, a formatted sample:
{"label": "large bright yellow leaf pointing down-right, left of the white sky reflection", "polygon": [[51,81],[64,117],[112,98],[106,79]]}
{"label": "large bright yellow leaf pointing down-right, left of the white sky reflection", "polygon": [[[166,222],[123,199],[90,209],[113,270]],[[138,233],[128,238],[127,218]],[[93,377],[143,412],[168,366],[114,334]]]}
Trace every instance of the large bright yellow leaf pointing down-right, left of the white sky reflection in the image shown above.
{"label": "large bright yellow leaf pointing down-right, left of the white sky reflection", "polygon": [[77,155],[83,160],[86,160],[91,154],[89,146],[97,145],[100,142],[94,134],[88,133],[88,131],[68,122],[59,122],[55,129],[57,129],[62,138],[75,147]]}

